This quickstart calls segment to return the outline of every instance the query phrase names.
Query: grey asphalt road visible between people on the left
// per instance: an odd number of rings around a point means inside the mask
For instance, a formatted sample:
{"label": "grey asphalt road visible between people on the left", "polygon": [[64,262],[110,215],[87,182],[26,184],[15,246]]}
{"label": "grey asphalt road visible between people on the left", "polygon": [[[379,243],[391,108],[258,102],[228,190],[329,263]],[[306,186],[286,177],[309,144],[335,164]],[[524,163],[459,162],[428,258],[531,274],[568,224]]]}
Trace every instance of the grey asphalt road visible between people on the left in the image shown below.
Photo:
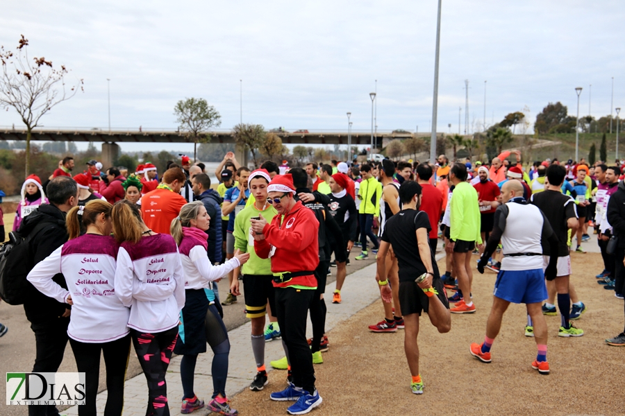
{"label": "grey asphalt road visible between people on the left", "polygon": [[[375,257],[370,256],[369,260],[355,261],[353,258],[360,254],[360,249],[354,248],[351,254],[351,264],[347,266],[348,275],[356,270],[364,268],[374,262]],[[336,280],[336,268],[331,268],[331,275],[328,275],[328,283]],[[228,292],[227,279],[222,280],[219,284],[219,296],[222,300],[226,299]],[[241,285],[242,293],[244,291],[243,285]],[[329,295],[331,296],[331,294]],[[240,327],[249,320],[245,318],[244,310],[244,298],[240,296],[238,303],[224,306],[224,323],[228,331]],[[30,322],[26,320],[24,315],[24,309],[22,306],[10,306],[3,302],[0,303],[0,322],[5,324],[9,331],[0,338],[0,373],[6,372],[27,372],[32,370],[33,363],[35,361],[35,336],[30,329]],[[106,388],[105,385],[105,372],[104,361],[101,361],[102,367],[100,370],[100,390]],[[75,372],[76,362],[74,361],[74,354],[72,348],[65,349],[65,357],[63,363],[59,369],[60,372]],[[128,371],[126,378],[130,379],[137,374],[140,374],[141,367],[139,361],[134,354],[134,350],[131,350],[130,361],[128,362]],[[0,400],[0,415],[2,416],[26,416],[28,411],[26,408],[17,406],[6,406],[5,401]]]}

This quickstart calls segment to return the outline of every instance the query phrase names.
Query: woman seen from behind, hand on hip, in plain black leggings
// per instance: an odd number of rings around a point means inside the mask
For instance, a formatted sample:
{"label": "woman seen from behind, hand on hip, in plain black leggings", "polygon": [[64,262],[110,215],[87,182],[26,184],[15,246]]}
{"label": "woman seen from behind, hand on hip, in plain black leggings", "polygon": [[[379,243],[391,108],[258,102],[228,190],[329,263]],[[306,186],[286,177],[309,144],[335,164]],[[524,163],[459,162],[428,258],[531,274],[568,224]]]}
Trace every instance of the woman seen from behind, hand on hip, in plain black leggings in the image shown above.
{"label": "woman seen from behind, hand on hip, in plain black leggings", "polygon": [[[112,208],[106,201],[92,200],[70,209],[65,219],[69,241],[38,263],[27,277],[44,295],[72,305],[67,335],[78,371],[85,373],[86,381],[85,405],[78,406],[80,416],[96,415],[101,353],[108,389],[104,415],[121,415],[124,407],[130,311],[115,296],[119,244],[110,236]],[[60,273],[72,293],[53,279]]]}

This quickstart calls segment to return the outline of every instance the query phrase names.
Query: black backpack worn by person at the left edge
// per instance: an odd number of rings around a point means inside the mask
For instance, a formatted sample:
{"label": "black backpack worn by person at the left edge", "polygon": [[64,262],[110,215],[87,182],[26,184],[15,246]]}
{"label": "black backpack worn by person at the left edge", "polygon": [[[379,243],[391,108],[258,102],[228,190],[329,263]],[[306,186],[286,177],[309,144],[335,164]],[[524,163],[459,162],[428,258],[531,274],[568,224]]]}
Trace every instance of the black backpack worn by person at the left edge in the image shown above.
{"label": "black backpack worn by person at the left edge", "polygon": [[54,228],[55,221],[42,220],[30,234],[9,233],[9,241],[0,246],[0,298],[10,305],[21,305],[30,290],[28,272],[33,270],[31,241],[45,228]]}

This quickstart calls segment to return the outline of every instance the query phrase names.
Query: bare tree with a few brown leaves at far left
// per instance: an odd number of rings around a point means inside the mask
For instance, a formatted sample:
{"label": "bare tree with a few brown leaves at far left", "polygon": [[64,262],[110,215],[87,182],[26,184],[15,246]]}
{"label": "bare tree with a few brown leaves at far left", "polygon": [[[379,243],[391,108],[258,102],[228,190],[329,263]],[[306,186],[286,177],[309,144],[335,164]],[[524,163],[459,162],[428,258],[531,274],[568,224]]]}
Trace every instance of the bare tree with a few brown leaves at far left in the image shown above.
{"label": "bare tree with a few brown leaves at far left", "polygon": [[28,58],[28,40],[22,35],[13,53],[0,46],[0,109],[12,107],[26,125],[26,171],[31,168],[31,135],[33,128],[54,106],[69,100],[78,87],[83,91],[83,80],[67,87],[65,76],[69,70],[64,65],[54,68],[46,58]]}

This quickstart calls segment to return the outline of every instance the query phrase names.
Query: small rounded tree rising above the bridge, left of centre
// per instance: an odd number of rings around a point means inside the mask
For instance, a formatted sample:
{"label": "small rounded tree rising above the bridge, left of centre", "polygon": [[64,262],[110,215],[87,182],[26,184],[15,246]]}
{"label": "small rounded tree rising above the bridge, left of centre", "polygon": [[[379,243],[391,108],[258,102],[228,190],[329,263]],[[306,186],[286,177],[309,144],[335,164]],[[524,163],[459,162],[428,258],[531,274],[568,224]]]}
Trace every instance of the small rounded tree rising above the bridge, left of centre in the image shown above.
{"label": "small rounded tree rising above the bridge, left of centre", "polygon": [[174,106],[180,131],[193,139],[193,160],[197,162],[197,144],[209,143],[210,135],[202,134],[211,127],[222,125],[222,116],[204,98],[185,98]]}

